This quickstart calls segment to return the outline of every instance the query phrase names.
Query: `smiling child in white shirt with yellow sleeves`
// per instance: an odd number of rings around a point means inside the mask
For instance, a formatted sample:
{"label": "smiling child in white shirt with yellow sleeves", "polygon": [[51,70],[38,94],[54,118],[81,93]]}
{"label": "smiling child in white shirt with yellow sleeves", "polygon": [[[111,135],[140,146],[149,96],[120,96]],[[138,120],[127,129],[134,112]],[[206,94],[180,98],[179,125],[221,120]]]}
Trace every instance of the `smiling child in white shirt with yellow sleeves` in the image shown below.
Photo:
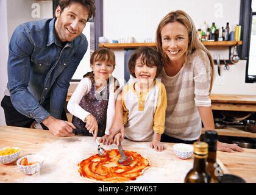
{"label": "smiling child in white shirt with yellow sleeves", "polygon": [[[157,50],[150,47],[136,49],[129,60],[129,71],[136,79],[131,80],[119,94],[116,104],[115,121],[121,121],[123,111],[124,134],[132,141],[151,141],[150,147],[163,151],[160,143],[165,130],[166,91],[165,86],[155,77],[162,71],[162,63]],[[122,104],[120,106],[118,104]],[[113,124],[112,130],[115,130]],[[115,136],[119,144],[120,133]],[[112,137],[109,139],[113,142]]]}

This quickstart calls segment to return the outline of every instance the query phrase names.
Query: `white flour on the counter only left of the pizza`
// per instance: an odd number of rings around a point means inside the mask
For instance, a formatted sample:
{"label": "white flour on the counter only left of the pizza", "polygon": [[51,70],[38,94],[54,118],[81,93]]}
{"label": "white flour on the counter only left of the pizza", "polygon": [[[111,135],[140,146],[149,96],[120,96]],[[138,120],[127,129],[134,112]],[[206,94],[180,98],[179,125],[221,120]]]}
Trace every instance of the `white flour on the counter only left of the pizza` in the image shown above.
{"label": "white flour on the counter only left of the pizza", "polygon": [[[37,153],[44,157],[40,172],[17,179],[16,182],[89,182],[84,177],[80,177],[77,164],[97,154],[97,148],[93,138],[85,140],[70,137],[44,144],[43,149]],[[104,148],[112,149],[115,146],[104,146]]]}

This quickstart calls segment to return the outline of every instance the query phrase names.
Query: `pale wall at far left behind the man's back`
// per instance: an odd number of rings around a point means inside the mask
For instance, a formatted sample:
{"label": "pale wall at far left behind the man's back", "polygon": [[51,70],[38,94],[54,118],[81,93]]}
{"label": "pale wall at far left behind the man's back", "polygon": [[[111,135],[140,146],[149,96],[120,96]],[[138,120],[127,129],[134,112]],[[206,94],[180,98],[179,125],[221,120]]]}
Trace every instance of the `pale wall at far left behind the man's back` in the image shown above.
{"label": "pale wall at far left behind the man's back", "polygon": [[[37,7],[32,8],[33,4]],[[35,9],[37,9],[37,12],[35,12]],[[35,16],[39,16],[39,18]],[[0,101],[2,101],[7,85],[8,46],[13,30],[19,24],[27,21],[52,18],[52,1],[0,0],[0,18]],[[0,125],[4,124],[4,110],[0,107]]]}

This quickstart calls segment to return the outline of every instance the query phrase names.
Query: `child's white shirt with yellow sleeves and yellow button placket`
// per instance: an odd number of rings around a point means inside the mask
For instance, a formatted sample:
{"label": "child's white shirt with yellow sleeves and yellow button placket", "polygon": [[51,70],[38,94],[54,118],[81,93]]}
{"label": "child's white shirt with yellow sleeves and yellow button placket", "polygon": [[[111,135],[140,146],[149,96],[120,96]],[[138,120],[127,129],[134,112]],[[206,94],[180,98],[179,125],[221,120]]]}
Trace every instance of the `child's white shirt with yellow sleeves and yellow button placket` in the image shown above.
{"label": "child's white shirt with yellow sleeves and yellow button placket", "polygon": [[154,132],[165,130],[166,90],[159,79],[147,91],[135,90],[135,82],[124,87],[122,93],[124,108],[124,132],[129,140],[151,141]]}

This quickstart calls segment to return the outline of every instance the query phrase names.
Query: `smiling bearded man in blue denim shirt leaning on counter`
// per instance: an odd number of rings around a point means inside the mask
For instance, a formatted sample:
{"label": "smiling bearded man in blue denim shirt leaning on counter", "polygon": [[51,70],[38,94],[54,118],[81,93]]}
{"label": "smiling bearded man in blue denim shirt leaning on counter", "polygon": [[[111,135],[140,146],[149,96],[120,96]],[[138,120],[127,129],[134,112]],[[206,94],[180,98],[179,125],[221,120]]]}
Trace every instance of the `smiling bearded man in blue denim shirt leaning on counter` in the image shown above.
{"label": "smiling bearded man in blue denim shirt leaning on counter", "polygon": [[94,0],[60,0],[55,18],[15,29],[1,102],[8,126],[30,127],[36,121],[55,136],[74,135],[73,124],[64,121],[63,105],[69,82],[87,51],[82,30],[94,14]]}

